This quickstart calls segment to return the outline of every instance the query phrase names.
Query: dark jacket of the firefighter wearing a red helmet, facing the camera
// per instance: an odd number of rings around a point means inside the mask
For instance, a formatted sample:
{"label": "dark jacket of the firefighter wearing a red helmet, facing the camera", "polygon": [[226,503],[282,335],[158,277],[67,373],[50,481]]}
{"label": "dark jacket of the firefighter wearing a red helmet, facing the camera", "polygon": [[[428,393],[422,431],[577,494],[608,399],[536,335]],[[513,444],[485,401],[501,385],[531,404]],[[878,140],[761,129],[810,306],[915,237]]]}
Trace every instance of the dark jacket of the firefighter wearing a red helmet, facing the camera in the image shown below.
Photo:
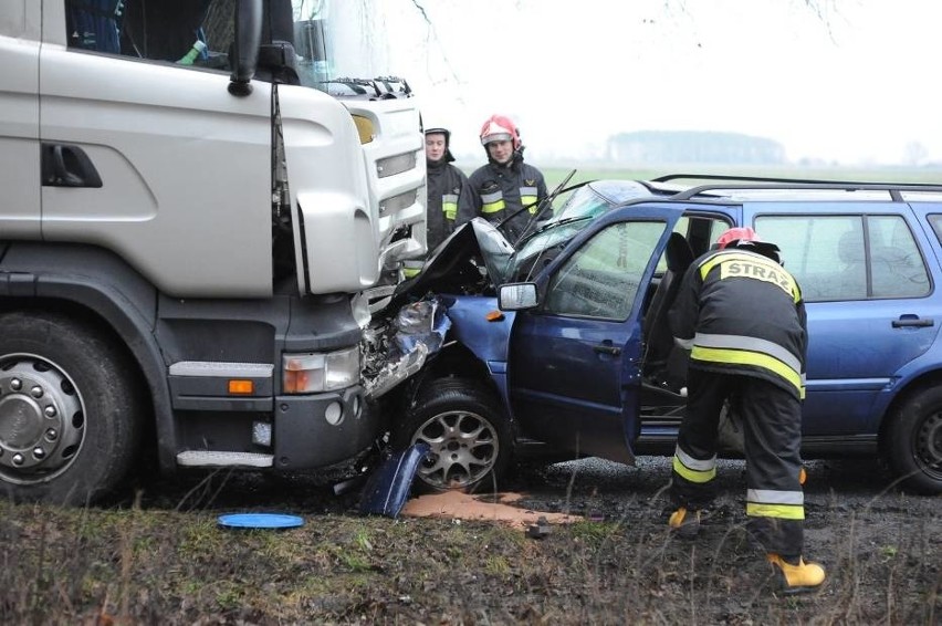
{"label": "dark jacket of the firefighter wearing a red helmet, facing the camera", "polygon": [[[503,233],[511,243],[516,243],[531,218],[536,213],[537,206],[548,192],[543,174],[515,158],[510,166],[489,163],[474,170],[468,178],[465,192],[458,202],[458,225],[483,217],[491,223],[500,223],[507,216],[520,211],[503,227]],[[553,217],[553,208],[547,207],[540,220]]]}

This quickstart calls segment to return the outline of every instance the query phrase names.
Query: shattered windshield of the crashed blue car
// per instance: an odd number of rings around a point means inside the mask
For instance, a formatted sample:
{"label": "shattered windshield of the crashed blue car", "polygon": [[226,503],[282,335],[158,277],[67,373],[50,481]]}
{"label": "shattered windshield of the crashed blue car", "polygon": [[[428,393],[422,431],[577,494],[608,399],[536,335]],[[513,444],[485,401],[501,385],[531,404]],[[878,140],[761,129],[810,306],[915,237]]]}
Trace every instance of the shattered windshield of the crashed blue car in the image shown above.
{"label": "shattered windshield of the crashed blue car", "polygon": [[629,200],[650,195],[650,189],[635,180],[595,180],[579,187],[552,219],[519,243],[504,271],[494,280],[499,283],[528,280],[593,219]]}

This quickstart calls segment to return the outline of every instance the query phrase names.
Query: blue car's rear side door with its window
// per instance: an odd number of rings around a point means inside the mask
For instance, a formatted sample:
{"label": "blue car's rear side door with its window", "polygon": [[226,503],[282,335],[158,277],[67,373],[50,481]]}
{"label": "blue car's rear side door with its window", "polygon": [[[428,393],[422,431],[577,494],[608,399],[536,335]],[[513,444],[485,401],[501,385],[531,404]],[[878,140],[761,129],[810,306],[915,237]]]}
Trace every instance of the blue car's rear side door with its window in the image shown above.
{"label": "blue car's rear side door with its window", "polygon": [[743,212],[782,248],[807,304],[805,445],[875,441],[880,395],[929,349],[942,321],[929,298],[924,232],[903,202],[776,202],[774,212],[755,202]]}

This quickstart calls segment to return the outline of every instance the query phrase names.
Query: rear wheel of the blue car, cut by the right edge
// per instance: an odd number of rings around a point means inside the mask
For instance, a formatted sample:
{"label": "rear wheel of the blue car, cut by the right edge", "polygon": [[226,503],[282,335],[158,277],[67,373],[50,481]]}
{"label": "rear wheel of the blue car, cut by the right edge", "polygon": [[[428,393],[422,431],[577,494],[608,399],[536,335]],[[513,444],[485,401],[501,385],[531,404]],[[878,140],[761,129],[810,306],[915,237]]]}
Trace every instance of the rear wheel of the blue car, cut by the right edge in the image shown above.
{"label": "rear wheel of the blue car, cut by the right edge", "polygon": [[942,493],[942,387],[917,393],[892,415],[888,460],[902,484]]}

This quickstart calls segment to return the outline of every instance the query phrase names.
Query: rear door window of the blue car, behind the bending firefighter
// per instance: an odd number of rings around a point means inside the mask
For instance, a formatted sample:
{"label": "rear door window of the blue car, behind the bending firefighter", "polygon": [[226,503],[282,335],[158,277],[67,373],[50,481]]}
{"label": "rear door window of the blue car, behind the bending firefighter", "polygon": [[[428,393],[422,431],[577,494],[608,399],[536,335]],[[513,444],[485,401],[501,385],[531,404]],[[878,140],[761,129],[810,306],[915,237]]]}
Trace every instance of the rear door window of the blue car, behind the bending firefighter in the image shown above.
{"label": "rear door window of the blue car, behind the bending firefighter", "polygon": [[900,216],[760,216],[808,302],[919,298],[929,272]]}

